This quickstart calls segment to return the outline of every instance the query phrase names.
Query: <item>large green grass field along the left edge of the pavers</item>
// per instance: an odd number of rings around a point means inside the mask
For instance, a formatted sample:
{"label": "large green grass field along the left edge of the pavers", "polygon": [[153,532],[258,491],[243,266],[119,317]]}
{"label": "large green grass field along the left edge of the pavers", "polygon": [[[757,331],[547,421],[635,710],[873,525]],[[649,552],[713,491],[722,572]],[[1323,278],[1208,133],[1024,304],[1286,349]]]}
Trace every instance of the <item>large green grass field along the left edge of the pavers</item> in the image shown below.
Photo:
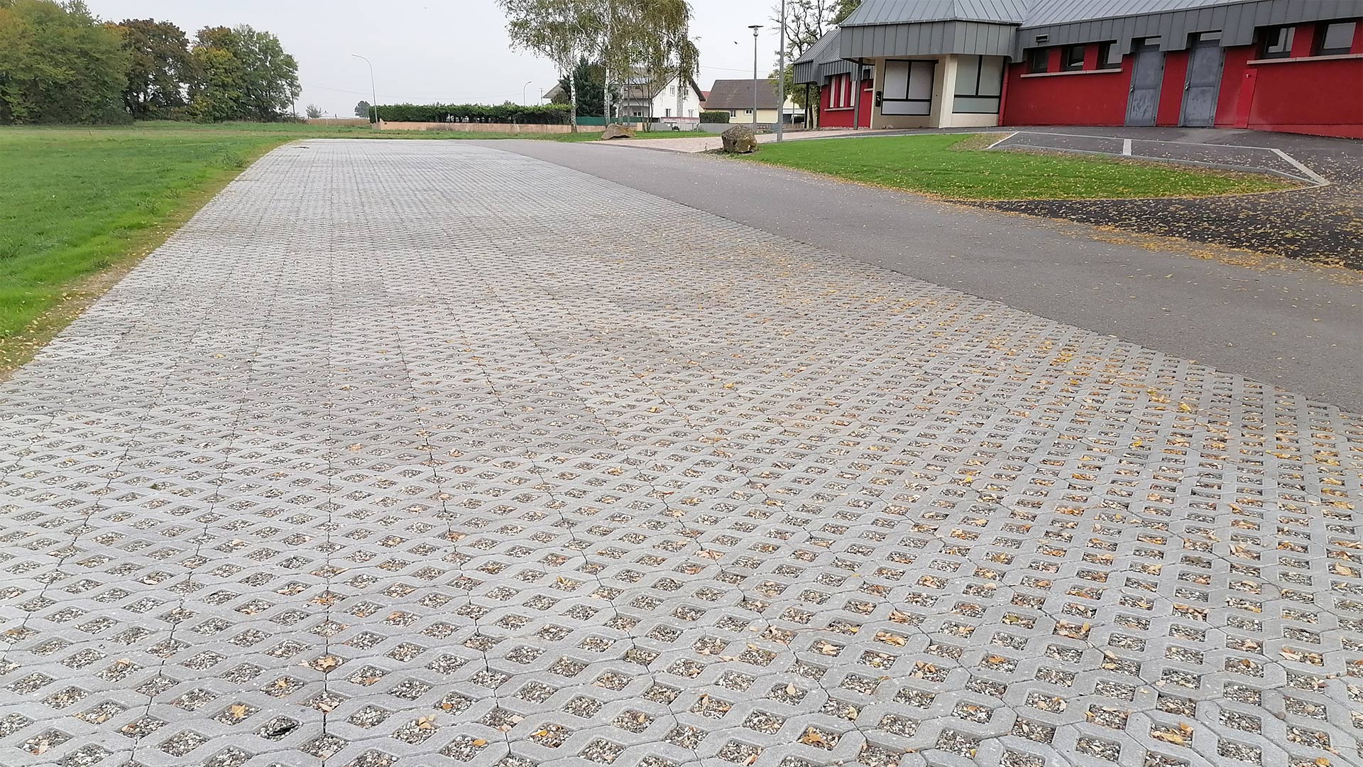
{"label": "large green grass field along the left edge of the pavers", "polygon": [[598,136],[289,123],[0,127],[0,373],[22,364],[99,295],[109,274],[161,244],[251,161],[282,143]]}

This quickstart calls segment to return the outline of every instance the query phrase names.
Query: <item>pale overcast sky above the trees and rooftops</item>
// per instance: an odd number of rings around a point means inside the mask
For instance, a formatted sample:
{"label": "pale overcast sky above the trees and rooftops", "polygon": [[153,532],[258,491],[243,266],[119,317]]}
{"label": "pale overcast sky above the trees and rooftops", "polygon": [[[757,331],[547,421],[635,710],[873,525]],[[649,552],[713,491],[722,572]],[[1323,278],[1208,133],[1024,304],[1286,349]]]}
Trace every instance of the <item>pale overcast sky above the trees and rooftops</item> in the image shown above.
{"label": "pale overcast sky above the trees and rooftops", "polygon": [[[251,25],[279,35],[298,60],[304,105],[350,115],[369,101],[373,61],[379,102],[538,102],[557,82],[547,60],[510,49],[506,19],[493,0],[87,0],[102,19],[165,19],[191,38],[204,26]],[[691,0],[691,34],[701,40],[701,87],[716,79],[752,76],[752,33],[762,74],[776,68],[773,0]],[[529,82],[529,85],[525,85]]]}

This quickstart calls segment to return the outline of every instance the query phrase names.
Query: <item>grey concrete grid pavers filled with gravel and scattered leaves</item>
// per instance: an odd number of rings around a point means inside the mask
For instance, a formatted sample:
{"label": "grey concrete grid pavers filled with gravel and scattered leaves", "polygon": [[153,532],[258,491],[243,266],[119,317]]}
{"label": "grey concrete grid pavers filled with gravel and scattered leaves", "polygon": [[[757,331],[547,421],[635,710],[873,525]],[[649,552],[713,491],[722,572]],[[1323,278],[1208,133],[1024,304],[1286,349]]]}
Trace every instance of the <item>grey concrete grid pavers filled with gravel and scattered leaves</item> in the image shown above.
{"label": "grey concrete grid pavers filled with gravel and scattered leaves", "polygon": [[0,764],[1358,764],[1356,416],[458,142],[0,388]]}

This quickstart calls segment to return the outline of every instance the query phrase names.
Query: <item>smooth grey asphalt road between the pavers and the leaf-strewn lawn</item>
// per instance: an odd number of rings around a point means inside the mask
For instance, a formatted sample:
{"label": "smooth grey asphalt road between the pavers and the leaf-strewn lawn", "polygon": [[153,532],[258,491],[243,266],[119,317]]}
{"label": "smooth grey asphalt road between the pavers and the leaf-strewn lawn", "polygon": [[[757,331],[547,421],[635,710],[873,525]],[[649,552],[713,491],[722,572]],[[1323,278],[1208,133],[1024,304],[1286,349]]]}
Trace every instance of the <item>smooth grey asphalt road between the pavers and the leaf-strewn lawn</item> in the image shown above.
{"label": "smooth grey asphalt road between the pavers and the leaf-strewn lawn", "polygon": [[1174,242],[1111,242],[1130,237],[716,156],[485,145],[1363,412],[1363,291],[1345,270],[1198,258]]}

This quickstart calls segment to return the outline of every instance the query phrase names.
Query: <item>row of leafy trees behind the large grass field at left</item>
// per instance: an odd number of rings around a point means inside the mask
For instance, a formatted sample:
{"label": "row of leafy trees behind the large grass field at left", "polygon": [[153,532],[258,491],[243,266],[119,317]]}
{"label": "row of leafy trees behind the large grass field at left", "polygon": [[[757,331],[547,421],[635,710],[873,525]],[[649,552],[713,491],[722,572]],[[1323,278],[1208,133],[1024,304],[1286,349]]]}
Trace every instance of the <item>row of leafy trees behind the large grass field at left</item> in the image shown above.
{"label": "row of leafy trees behind the large grass field at left", "polygon": [[0,0],[0,123],[279,120],[303,91],[279,38],[94,16],[82,0]]}

